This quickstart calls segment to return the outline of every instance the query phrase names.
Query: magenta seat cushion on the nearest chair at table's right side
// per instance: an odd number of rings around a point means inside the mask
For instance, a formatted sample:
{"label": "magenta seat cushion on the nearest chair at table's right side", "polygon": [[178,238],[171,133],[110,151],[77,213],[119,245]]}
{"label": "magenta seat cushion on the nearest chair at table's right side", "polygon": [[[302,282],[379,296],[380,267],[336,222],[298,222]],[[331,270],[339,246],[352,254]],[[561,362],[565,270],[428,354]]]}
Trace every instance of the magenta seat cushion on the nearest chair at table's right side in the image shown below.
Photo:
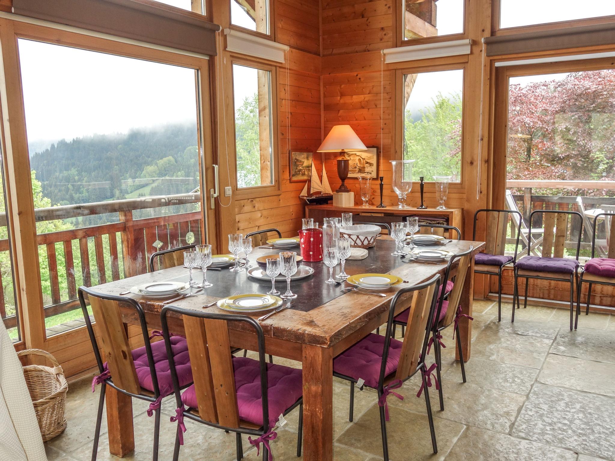
{"label": "magenta seat cushion on the nearest chair at table's right side", "polygon": [[[402,353],[402,344],[401,341],[391,338],[384,376],[397,369],[399,356]],[[355,380],[362,378],[365,380],[365,385],[376,388],[380,377],[383,350],[384,336],[370,333],[333,359],[333,371]]]}

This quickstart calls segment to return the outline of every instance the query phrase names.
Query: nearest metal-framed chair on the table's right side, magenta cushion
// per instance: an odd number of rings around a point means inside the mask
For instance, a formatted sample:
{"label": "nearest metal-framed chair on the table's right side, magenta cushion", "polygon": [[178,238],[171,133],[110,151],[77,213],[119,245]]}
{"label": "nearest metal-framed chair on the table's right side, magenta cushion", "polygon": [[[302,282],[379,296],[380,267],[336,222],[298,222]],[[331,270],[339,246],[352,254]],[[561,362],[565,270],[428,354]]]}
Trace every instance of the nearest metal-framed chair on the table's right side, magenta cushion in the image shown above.
{"label": "nearest metal-framed chair on the table's right side, magenta cushion", "polygon": [[[389,420],[389,409],[386,403],[387,396],[392,393],[401,398],[393,390],[402,387],[403,382],[419,371],[423,376],[423,385],[421,385],[418,396],[421,395],[421,392],[425,392],[425,404],[427,406],[432,447],[434,453],[438,452],[428,390],[431,387],[431,375],[435,366],[432,365],[430,368],[427,368],[425,360],[430,334],[428,325],[434,319],[436,294],[440,280],[440,275],[436,275],[425,283],[397,291],[391,299],[386,334],[380,336],[370,333],[333,360],[333,376],[345,379],[351,385],[349,420],[352,421],[353,416],[355,385],[358,385],[360,388],[367,386],[378,390],[380,430],[383,438],[385,461],[389,459],[386,434],[386,422]],[[397,341],[397,339],[392,337],[395,309],[398,302],[407,301],[410,297],[412,299],[409,309],[412,311],[412,322],[408,327],[409,329],[403,342]],[[375,350],[382,352],[375,353]],[[378,363],[380,364],[379,368]],[[436,387],[438,387],[437,383]]]}

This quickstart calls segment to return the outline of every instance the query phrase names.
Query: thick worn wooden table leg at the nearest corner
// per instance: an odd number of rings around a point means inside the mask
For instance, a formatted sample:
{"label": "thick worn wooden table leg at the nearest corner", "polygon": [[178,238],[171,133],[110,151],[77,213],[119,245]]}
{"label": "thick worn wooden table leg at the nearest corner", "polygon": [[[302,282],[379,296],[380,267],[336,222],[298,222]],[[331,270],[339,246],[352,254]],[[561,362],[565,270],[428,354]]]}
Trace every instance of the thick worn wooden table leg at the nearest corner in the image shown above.
{"label": "thick worn wooden table leg at the nearest corner", "polygon": [[303,345],[303,459],[333,460],[333,349]]}

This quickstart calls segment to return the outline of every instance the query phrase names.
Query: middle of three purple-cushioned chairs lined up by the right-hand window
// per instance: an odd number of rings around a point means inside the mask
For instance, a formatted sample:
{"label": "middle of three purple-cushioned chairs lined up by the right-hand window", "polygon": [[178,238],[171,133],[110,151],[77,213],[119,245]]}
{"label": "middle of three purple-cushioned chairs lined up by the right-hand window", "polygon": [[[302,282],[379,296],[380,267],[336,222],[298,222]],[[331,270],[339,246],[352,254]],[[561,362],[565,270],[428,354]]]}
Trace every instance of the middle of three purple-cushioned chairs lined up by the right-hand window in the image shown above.
{"label": "middle of three purple-cushioned chairs lined up by the right-hand window", "polygon": [[[583,217],[578,211],[560,210],[534,210],[530,213],[530,223],[534,215],[542,216],[544,234],[542,237],[541,256],[525,256],[515,263],[515,288],[512,299],[512,320],[515,321],[515,302],[517,309],[519,300],[519,277],[525,277],[525,301],[523,307],[528,305],[528,282],[530,278],[539,280],[554,280],[556,282],[570,281],[570,329],[573,329],[574,315],[574,286],[579,280],[579,250],[581,249],[581,236],[583,235]],[[566,231],[568,221],[578,219],[579,235],[576,242],[574,259],[564,258],[566,244]],[[570,226],[573,227],[573,226]],[[532,229],[528,234],[531,242]]]}

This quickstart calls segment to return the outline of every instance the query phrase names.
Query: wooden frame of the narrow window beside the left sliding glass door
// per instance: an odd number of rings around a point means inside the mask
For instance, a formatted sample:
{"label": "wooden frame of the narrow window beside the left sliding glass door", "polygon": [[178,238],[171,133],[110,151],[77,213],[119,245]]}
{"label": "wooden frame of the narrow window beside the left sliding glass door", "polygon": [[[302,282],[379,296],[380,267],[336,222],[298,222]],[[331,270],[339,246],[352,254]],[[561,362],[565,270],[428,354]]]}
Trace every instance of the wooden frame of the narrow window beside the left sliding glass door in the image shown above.
{"label": "wooden frame of the narrow window beside the left sliding glass door", "polygon": [[[234,0],[230,0],[234,1]],[[251,60],[245,57],[239,57],[238,55],[231,54],[231,77],[233,75],[233,66],[246,66],[253,69],[258,69],[261,71],[269,71],[269,126],[271,133],[271,182],[272,184],[263,184],[261,186],[252,186],[252,187],[239,187],[237,184],[237,144],[236,144],[236,127],[235,127],[235,82],[234,79],[231,82],[231,93],[229,95],[230,98],[230,108],[231,115],[230,120],[232,121],[232,142],[233,142],[233,152],[234,152],[234,163],[232,165],[234,171],[234,189],[235,195],[237,199],[250,199],[254,197],[266,197],[268,195],[279,194],[280,192],[280,160],[279,157],[276,156],[276,152],[279,153],[278,149],[278,135],[279,131],[277,130],[278,122],[277,122],[277,111],[278,104],[277,101],[277,66],[268,64],[264,61]]]}

